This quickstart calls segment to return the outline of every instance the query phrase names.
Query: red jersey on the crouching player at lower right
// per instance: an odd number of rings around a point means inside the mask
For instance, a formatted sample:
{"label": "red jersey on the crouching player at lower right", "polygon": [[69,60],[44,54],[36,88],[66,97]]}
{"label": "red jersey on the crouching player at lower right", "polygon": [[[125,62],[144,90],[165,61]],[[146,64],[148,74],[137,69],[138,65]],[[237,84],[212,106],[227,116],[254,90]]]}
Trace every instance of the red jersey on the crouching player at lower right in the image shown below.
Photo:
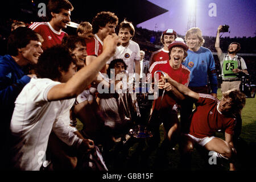
{"label": "red jersey on the crouching player at lower right", "polygon": [[189,134],[196,138],[212,137],[218,130],[233,134],[235,119],[226,118],[217,110],[220,101],[209,94],[199,95],[196,110],[192,114]]}

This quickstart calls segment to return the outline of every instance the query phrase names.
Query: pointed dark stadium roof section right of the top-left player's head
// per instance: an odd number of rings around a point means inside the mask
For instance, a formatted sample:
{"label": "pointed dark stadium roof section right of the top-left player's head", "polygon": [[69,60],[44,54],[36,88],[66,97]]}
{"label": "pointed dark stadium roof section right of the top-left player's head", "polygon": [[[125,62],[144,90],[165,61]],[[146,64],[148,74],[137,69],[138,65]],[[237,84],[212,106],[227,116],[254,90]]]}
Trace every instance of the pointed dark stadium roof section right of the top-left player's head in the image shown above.
{"label": "pointed dark stadium roof section right of the top-left player's head", "polygon": [[[71,0],[73,3],[73,1]],[[100,4],[100,5],[98,5]],[[148,19],[154,18],[155,16],[166,13],[168,10],[163,9],[146,0],[129,0],[129,1],[98,1],[83,3],[82,1],[76,4],[73,3],[75,10],[72,12],[72,16],[76,19],[82,16],[86,17],[86,20],[91,22],[92,18],[100,11],[111,11],[118,16],[119,22],[124,18],[133,22],[134,25],[145,22]],[[86,9],[90,9],[86,12]],[[82,14],[81,16],[81,13]]]}

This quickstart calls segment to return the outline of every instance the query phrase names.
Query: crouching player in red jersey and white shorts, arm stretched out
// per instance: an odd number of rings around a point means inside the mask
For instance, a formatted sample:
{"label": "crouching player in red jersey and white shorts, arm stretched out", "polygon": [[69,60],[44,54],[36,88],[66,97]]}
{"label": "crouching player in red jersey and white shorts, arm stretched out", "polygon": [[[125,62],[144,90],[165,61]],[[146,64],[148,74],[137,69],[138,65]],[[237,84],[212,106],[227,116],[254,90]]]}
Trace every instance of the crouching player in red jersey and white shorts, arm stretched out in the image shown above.
{"label": "crouching player in red jersey and white shorts, arm stretched out", "polygon": [[[168,75],[159,81],[159,88],[167,91],[176,88],[180,93],[196,100],[197,107],[191,115],[189,134],[185,135],[185,142],[180,146],[181,158],[190,156],[197,143],[209,151],[214,151],[212,155],[230,160],[230,171],[235,170],[236,150],[232,140],[236,125],[234,115],[245,106],[245,94],[238,90],[229,90],[223,93],[221,100],[217,100],[209,94],[193,92],[187,86],[172,80]],[[213,137],[218,130],[225,131],[225,140]]]}

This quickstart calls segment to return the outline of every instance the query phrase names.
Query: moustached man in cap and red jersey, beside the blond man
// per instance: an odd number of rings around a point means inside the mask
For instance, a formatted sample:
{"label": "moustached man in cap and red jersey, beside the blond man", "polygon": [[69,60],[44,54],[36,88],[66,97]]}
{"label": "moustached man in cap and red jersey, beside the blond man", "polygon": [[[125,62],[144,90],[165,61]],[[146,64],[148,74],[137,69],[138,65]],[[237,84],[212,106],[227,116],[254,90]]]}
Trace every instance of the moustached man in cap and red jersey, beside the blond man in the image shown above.
{"label": "moustached man in cap and red jersey, beside the blond man", "polygon": [[161,35],[160,41],[164,47],[152,53],[150,57],[150,66],[156,61],[169,60],[168,46],[170,46],[170,44],[174,42],[176,38],[177,38],[177,33],[172,29],[167,29],[166,31],[163,32],[163,34]]}

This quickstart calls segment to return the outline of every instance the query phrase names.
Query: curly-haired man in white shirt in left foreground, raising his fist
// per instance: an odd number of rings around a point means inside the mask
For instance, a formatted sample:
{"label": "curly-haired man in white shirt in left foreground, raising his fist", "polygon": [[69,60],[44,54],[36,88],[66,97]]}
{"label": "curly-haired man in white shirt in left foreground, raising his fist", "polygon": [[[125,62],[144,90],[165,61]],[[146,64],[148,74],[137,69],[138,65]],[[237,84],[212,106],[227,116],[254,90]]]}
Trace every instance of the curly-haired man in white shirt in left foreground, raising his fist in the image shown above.
{"label": "curly-haired man in white shirt in left foreground, raising his fist", "polygon": [[117,35],[108,35],[102,54],[77,73],[67,49],[56,46],[44,52],[36,68],[38,78],[32,78],[15,101],[10,126],[13,168],[39,170],[52,131],[82,153],[94,148],[92,140],[77,137],[64,125],[69,118],[63,114],[73,105],[70,99],[80,94],[113,56],[118,43]]}

